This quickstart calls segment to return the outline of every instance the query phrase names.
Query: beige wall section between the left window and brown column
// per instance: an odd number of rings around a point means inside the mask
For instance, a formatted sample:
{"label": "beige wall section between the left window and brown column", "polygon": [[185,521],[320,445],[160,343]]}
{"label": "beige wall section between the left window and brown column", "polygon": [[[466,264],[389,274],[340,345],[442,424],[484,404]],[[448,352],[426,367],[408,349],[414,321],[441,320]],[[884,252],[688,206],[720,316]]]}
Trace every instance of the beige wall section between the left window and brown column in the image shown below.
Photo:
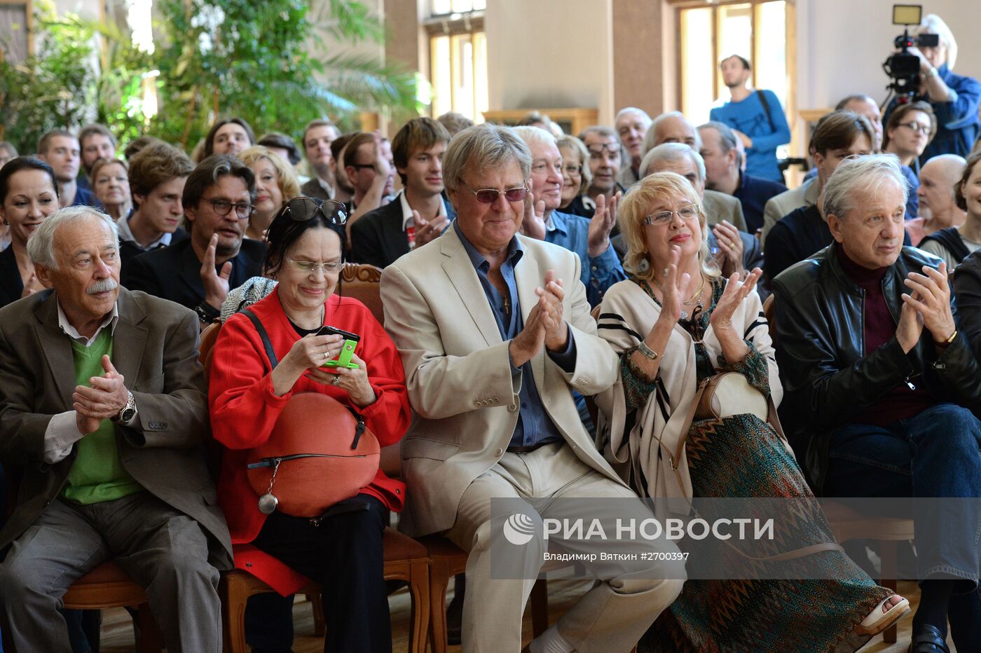
{"label": "beige wall section between the left window and brown column", "polygon": [[490,109],[588,107],[613,119],[612,0],[490,0]]}

